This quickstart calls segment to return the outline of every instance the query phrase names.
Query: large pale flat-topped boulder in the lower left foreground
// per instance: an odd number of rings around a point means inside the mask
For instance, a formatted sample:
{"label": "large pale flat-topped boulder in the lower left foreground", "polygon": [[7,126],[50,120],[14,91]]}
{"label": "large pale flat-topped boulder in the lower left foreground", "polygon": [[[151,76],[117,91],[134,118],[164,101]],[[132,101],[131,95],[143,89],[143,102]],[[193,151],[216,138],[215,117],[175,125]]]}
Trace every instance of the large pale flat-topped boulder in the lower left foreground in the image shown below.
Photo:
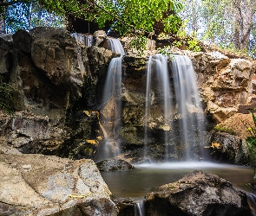
{"label": "large pale flat-topped boulder in the lower left foreground", "polygon": [[0,215],[117,215],[95,163],[0,153]]}

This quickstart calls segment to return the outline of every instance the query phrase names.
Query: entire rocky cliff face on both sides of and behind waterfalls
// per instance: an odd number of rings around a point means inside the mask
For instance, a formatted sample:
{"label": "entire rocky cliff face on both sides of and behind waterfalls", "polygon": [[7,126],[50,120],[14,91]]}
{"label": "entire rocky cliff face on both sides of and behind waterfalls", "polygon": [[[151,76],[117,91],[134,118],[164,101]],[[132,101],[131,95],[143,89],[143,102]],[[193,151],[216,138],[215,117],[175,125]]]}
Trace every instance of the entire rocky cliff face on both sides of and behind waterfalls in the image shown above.
{"label": "entire rocky cliff face on both sides of and behind waterfalls", "polygon": [[[105,38],[102,33],[95,34],[94,44],[104,47]],[[85,47],[64,29],[36,28],[2,36],[0,73],[17,91],[16,110],[19,112],[14,116],[2,115],[1,142],[24,153],[96,158],[97,149],[101,149],[106,137],[99,112],[103,86],[108,63],[115,56],[98,46]],[[208,120],[223,122],[238,111],[239,105],[251,103],[253,62],[231,60],[216,52],[179,51],[179,54],[187,54],[193,60]],[[142,158],[145,143],[147,61],[147,58],[131,55],[123,59],[119,138],[127,156],[137,159]],[[171,60],[168,64],[171,72]],[[169,77],[173,79],[171,73]],[[148,156],[157,160],[163,159],[162,143],[167,130],[162,105],[158,103],[161,97],[155,94],[148,127],[151,134],[148,142],[152,143]],[[172,118],[177,133],[175,125],[181,119],[180,115]],[[207,126],[209,130],[211,125]],[[211,145],[213,138],[207,131],[204,137],[210,143],[206,145]],[[177,138],[175,146],[170,148],[182,157],[184,146],[179,142]],[[221,143],[219,138],[218,142]],[[197,151],[195,149],[194,153]]]}

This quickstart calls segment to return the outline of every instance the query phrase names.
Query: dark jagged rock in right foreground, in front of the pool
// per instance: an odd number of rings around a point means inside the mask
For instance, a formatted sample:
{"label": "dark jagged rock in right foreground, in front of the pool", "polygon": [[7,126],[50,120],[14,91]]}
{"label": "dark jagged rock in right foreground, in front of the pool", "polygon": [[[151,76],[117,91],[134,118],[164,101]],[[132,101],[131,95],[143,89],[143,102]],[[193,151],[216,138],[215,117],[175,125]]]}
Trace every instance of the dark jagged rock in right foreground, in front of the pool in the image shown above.
{"label": "dark jagged rock in right foreground, in front of the pool", "polygon": [[250,215],[246,194],[217,175],[196,170],[146,195],[147,215]]}

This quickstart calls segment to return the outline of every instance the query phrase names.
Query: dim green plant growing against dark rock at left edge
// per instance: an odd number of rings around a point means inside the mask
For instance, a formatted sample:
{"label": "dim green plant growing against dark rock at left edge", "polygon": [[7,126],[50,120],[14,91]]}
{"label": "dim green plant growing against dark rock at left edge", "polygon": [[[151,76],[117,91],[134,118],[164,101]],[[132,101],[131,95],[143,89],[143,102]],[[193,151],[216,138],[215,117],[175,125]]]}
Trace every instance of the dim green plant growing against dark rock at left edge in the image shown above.
{"label": "dim green plant growing against dark rock at left edge", "polygon": [[16,104],[15,92],[9,84],[3,82],[3,77],[0,76],[0,109],[2,111],[10,114],[14,112],[14,105]]}

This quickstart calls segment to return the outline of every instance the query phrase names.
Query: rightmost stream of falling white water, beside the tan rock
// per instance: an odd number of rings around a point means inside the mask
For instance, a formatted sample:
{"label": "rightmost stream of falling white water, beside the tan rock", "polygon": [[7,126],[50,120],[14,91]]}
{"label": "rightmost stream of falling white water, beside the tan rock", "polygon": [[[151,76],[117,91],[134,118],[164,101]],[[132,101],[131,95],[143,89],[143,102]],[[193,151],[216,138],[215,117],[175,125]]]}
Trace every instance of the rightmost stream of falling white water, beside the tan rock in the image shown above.
{"label": "rightmost stream of falling white water, beside the tan rock", "polygon": [[194,142],[203,144],[204,111],[200,104],[200,95],[192,61],[186,55],[174,55],[172,61],[174,89],[178,113],[181,114],[183,143],[186,144],[186,159],[191,160]]}

